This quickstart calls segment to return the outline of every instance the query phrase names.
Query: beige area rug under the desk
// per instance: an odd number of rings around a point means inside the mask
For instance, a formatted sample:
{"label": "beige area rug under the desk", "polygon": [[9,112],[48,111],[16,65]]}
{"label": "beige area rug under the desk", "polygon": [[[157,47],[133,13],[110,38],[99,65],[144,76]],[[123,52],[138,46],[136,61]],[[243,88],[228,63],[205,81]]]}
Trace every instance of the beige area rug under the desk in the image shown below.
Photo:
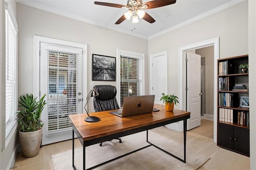
{"label": "beige area rug under the desk", "polygon": [[[148,141],[167,150],[168,152],[184,158],[183,145],[149,131]],[[140,132],[122,137],[122,143],[118,140],[104,142],[102,146],[95,144],[86,147],[86,169],[100,164],[122,154],[126,154],[138,148],[148,145],[146,132]],[[76,169],[82,170],[82,147],[75,149]],[[210,158],[192,149],[186,150],[186,163],[166,154],[165,152],[149,146],[138,152],[124,156],[104,164],[97,170],[195,170],[200,168]],[[54,170],[72,170],[72,150],[52,155]]]}

